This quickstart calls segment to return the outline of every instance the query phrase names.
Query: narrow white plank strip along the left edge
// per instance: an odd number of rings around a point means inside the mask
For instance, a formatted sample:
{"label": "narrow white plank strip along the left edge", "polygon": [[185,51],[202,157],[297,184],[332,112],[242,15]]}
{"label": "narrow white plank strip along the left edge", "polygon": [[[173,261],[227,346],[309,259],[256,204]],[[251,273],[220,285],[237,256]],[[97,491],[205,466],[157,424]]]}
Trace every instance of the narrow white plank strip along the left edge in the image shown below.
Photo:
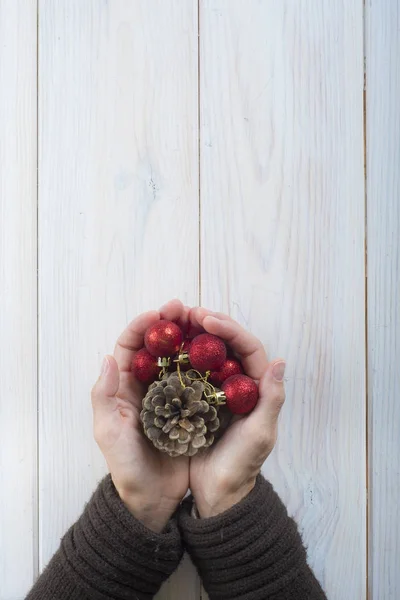
{"label": "narrow white plank strip along the left edge", "polygon": [[36,2],[0,0],[0,598],[37,570]]}

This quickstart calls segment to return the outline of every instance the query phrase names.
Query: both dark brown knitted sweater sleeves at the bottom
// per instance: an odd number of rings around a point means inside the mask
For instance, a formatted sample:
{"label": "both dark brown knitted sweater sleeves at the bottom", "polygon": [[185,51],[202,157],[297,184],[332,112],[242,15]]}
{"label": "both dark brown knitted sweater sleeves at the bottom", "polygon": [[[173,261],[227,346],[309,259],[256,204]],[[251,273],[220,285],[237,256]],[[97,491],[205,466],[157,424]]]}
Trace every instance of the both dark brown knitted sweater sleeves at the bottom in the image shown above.
{"label": "both dark brown knitted sweater sleeves at the bottom", "polygon": [[[222,515],[195,519],[191,506],[183,503],[179,527],[210,600],[325,599],[294,521],[261,476]],[[182,552],[176,519],[161,534],[148,530],[107,476],[26,600],[149,600]]]}

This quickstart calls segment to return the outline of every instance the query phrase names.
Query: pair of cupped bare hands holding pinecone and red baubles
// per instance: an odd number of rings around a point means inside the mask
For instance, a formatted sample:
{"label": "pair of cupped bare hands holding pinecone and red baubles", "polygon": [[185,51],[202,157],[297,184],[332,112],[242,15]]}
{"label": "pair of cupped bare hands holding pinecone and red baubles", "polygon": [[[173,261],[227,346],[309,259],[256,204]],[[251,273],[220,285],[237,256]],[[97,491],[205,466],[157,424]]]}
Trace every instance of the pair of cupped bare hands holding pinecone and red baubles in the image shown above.
{"label": "pair of cupped bare hands holding pinecone and red baubles", "polygon": [[[245,373],[259,383],[256,408],[235,418],[222,438],[193,458],[171,458],[144,436],[140,422],[146,392],[131,372],[144,333],[159,319],[175,321],[187,331],[208,332],[225,340],[240,358]],[[274,447],[279,411],[285,400],[282,359],[268,363],[255,336],[229,316],[189,308],[171,300],[159,311],[132,321],[119,337],[114,356],[106,356],[92,390],[94,436],[114,486],[128,510],[146,527],[161,532],[190,488],[200,517],[224,512],[253,489]]]}

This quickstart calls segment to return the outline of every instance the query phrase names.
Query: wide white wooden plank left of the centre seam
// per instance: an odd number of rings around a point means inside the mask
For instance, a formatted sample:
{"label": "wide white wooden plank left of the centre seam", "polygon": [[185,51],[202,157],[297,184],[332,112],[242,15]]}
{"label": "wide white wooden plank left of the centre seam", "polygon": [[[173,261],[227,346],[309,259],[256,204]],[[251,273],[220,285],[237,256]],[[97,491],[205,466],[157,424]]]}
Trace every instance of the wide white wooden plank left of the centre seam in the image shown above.
{"label": "wide white wooden plank left of the centre seam", "polygon": [[[89,394],[136,313],[198,302],[197,3],[40,3],[40,566],[105,468]],[[197,598],[195,576],[160,598]]]}

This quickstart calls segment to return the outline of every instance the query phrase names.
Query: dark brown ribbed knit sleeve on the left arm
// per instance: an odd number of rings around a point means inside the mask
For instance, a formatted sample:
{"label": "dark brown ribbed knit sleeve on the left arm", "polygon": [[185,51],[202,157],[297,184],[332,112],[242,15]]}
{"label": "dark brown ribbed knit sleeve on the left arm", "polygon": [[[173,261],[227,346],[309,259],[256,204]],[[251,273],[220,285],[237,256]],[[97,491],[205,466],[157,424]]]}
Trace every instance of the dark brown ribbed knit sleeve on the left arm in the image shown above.
{"label": "dark brown ribbed knit sleeve on the left arm", "polygon": [[162,533],[150,531],[127,510],[108,475],[26,600],[149,600],[181,557],[176,519]]}

